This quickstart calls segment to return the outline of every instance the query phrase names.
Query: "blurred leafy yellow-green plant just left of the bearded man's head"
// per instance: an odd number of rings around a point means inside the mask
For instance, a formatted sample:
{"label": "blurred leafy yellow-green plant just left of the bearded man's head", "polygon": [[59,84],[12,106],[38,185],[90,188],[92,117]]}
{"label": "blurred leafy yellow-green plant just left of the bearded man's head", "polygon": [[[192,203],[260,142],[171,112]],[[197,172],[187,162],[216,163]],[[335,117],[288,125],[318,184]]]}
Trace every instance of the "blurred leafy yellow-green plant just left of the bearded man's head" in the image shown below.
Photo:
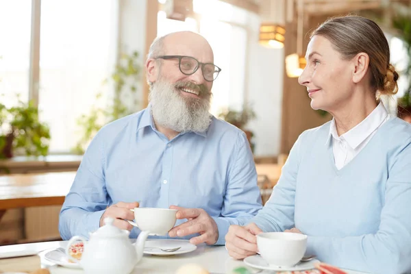
{"label": "blurred leafy yellow-green plant just left of the bearded man's head", "polygon": [[[121,55],[114,72],[110,78],[105,79],[103,82],[103,84],[114,83],[114,99],[105,107],[98,107],[97,104],[92,105],[88,114],[79,117],[77,124],[82,129],[83,136],[78,140],[73,152],[83,154],[88,142],[92,140],[103,125],[138,111],[136,85],[140,81],[141,71],[138,59],[139,54],[137,51],[134,51],[131,55]],[[100,99],[101,93],[98,93],[96,102],[99,102]],[[127,107],[124,102],[132,102],[132,106]]]}

